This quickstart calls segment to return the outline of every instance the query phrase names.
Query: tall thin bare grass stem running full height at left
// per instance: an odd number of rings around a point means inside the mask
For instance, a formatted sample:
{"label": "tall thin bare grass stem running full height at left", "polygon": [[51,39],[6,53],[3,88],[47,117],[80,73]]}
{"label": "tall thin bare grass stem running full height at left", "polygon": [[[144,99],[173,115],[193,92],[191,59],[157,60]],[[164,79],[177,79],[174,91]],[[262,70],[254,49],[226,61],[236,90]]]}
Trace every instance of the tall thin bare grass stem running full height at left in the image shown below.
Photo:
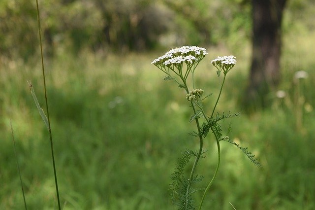
{"label": "tall thin bare grass stem running full height at left", "polygon": [[42,47],[42,41],[41,41],[42,39],[41,39],[41,30],[40,30],[40,17],[39,17],[38,0],[36,0],[36,8],[37,8],[39,43],[40,43],[40,55],[41,55],[41,64],[42,64],[42,72],[43,72],[43,80],[44,80],[45,103],[46,103],[46,111],[47,111],[47,119],[48,119],[48,132],[49,132],[50,147],[51,147],[51,154],[52,154],[52,160],[53,160],[55,185],[56,185],[56,193],[57,193],[57,200],[58,200],[58,209],[61,210],[60,198],[59,198],[59,190],[58,190],[58,181],[57,181],[57,173],[56,173],[56,164],[55,164],[55,157],[54,157],[53,137],[52,137],[51,127],[50,127],[48,102],[47,102],[45,68],[44,68],[44,58],[43,58],[43,47]]}

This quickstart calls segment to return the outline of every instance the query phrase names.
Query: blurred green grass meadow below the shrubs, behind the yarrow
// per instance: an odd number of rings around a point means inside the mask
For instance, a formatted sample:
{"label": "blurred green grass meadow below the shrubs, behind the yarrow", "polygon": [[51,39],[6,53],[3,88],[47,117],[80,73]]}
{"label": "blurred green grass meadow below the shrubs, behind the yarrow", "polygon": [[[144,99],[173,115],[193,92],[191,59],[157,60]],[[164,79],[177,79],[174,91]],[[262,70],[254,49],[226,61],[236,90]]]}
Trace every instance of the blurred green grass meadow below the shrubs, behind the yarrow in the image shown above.
{"label": "blurred green grass meadow below the shrubs, behind the yarrow", "polygon": [[[209,210],[315,209],[315,36],[284,37],[282,57],[284,99],[270,95],[272,106],[252,115],[242,113],[239,101],[247,83],[250,45],[235,52],[207,47],[209,55],[196,73],[198,87],[218,94],[218,79],[210,60],[233,54],[237,65],[226,81],[219,111],[241,111],[227,119],[230,137],[257,156],[255,167],[236,147],[222,143],[221,168],[204,203]],[[168,190],[170,175],[185,148],[197,149],[189,136],[194,125],[186,94],[151,61],[162,52],[121,56],[60,52],[46,59],[48,102],[57,175],[64,210],[174,210]],[[36,60],[36,59],[35,59]],[[24,209],[11,137],[16,149],[31,210],[57,209],[49,136],[32,100],[27,80],[44,107],[41,66],[2,60],[0,67],[0,210]],[[296,106],[296,71],[302,103]],[[276,91],[276,90],[275,90]],[[210,97],[205,106],[213,105]],[[302,110],[302,126],[296,112]],[[210,110],[209,110],[210,111]],[[205,140],[206,158],[196,173],[212,177],[217,150]],[[192,163],[191,163],[192,164]],[[188,169],[189,170],[189,169]],[[189,171],[188,171],[189,173]],[[198,203],[200,194],[195,194]]]}

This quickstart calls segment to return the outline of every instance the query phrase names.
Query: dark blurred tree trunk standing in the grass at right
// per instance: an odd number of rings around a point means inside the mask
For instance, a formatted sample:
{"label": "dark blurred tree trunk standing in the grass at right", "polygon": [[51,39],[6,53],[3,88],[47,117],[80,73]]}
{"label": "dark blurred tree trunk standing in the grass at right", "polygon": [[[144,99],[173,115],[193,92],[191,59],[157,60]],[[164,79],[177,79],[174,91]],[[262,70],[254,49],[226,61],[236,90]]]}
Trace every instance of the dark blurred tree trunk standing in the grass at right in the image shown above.
{"label": "dark blurred tree trunk standing in the grass at right", "polygon": [[252,66],[247,108],[268,105],[268,93],[280,81],[281,22],[287,0],[252,0]]}

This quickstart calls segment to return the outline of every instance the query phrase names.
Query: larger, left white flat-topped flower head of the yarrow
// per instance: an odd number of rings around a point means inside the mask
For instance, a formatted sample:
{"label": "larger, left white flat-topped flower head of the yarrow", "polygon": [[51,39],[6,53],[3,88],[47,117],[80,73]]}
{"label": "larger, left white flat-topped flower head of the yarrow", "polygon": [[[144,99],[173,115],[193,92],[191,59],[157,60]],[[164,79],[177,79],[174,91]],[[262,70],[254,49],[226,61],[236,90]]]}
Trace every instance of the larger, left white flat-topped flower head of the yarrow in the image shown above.
{"label": "larger, left white flat-topped flower head of the yarrow", "polygon": [[208,54],[205,48],[197,46],[182,46],[175,49],[171,49],[163,56],[158,57],[151,64],[156,66],[165,65],[170,66],[172,64],[194,63],[200,61],[205,55]]}

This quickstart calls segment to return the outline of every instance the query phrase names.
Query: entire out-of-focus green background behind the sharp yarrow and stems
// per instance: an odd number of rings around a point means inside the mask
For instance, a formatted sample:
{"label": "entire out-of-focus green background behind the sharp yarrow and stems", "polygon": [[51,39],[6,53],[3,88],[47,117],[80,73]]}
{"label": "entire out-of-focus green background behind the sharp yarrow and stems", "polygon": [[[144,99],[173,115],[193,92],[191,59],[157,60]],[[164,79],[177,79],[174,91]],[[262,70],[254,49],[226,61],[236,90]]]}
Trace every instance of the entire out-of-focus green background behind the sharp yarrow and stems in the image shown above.
{"label": "entire out-of-focus green background behind the sharp yarrow and stems", "polygon": [[[65,210],[174,210],[169,183],[185,148],[198,149],[185,93],[151,62],[182,45],[205,47],[196,81],[213,93],[210,60],[234,55],[218,111],[222,142],[204,203],[214,210],[315,209],[314,0],[40,0],[44,63]],[[31,210],[57,209],[35,0],[0,1],[0,209],[24,209],[11,136]],[[196,173],[212,177],[210,135]],[[191,168],[190,163],[187,172]],[[201,192],[195,193],[198,204]]]}

